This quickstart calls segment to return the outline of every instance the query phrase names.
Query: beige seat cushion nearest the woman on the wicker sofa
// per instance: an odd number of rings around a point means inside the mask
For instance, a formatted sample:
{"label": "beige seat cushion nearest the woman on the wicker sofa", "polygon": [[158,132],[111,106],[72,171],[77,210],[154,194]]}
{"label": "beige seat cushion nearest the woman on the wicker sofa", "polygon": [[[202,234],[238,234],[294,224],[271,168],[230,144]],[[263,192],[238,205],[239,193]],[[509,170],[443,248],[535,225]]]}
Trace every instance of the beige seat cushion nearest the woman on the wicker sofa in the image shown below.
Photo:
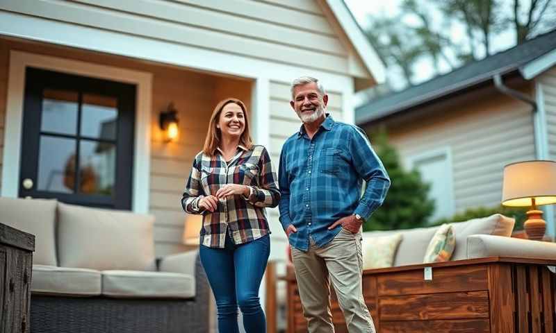
{"label": "beige seat cushion nearest the woman on the wicker sofa", "polygon": [[129,298],[193,298],[193,277],[182,273],[103,271],[102,294]]}

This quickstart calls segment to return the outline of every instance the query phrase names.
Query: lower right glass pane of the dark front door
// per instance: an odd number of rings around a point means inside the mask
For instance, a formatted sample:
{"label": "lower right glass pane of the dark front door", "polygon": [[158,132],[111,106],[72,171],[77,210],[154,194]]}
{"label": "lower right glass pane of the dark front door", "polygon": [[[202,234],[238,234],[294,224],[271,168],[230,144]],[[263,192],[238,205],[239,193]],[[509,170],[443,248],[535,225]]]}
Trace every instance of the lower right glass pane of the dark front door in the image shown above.
{"label": "lower right glass pane of the dark front door", "polygon": [[116,171],[115,144],[89,140],[82,140],[80,144],[79,191],[85,194],[111,196]]}

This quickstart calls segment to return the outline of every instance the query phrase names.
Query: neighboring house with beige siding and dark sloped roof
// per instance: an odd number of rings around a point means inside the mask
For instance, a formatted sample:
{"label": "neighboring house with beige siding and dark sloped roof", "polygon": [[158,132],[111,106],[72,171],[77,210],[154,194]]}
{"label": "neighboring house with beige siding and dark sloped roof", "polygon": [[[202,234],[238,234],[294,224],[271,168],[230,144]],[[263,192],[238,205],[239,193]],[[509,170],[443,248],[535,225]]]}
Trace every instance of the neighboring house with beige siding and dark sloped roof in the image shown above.
{"label": "neighboring house with beige siding and dark sloped roof", "polygon": [[404,166],[432,183],[433,219],[500,205],[506,164],[556,160],[556,31],[370,101],[356,123],[384,126]]}

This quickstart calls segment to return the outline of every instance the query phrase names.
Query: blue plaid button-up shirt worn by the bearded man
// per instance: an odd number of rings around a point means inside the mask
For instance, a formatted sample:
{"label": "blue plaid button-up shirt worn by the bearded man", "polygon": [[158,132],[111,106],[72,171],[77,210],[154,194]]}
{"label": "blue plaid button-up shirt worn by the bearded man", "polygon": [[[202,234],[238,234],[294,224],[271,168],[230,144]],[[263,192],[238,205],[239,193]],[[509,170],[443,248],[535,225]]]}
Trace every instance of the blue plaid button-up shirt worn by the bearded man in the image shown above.
{"label": "blue plaid button-up shirt worn by the bearded man", "polygon": [[[361,197],[363,180],[367,182]],[[329,225],[351,214],[367,219],[382,205],[390,178],[360,128],[327,118],[309,139],[304,126],[286,140],[278,176],[280,222],[293,224],[291,246],[309,249],[309,236],[325,246],[340,232]]]}

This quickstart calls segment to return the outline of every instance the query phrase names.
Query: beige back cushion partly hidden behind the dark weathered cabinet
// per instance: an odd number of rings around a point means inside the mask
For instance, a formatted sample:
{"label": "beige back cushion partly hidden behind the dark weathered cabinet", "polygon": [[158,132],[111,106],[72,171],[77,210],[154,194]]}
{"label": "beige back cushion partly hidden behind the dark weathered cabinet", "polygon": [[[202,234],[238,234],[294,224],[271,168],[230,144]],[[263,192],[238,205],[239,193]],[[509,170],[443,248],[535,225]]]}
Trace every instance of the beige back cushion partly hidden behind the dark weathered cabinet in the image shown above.
{"label": "beige back cushion partly hidden behind the dark weathered cabinet", "polygon": [[0,223],[35,235],[35,264],[57,266],[56,200],[0,197]]}

